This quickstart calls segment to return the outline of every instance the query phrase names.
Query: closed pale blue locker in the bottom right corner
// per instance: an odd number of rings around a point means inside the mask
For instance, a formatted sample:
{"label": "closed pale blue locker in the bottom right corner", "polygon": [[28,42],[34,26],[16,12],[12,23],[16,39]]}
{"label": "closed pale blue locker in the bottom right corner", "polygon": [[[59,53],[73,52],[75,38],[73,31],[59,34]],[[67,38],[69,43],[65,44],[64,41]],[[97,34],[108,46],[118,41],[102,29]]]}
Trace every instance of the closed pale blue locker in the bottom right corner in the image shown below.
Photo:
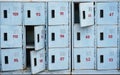
{"label": "closed pale blue locker in the bottom right corner", "polygon": [[117,48],[97,49],[97,69],[117,69]]}

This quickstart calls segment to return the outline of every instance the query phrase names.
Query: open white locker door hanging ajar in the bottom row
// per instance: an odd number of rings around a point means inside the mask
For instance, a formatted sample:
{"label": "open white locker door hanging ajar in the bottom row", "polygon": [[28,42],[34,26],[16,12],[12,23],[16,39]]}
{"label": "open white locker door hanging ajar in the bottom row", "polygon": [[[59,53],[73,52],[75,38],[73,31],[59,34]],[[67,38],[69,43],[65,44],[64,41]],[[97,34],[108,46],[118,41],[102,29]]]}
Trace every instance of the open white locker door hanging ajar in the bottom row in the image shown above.
{"label": "open white locker door hanging ajar in the bottom row", "polygon": [[36,74],[45,70],[45,49],[31,51],[31,72]]}

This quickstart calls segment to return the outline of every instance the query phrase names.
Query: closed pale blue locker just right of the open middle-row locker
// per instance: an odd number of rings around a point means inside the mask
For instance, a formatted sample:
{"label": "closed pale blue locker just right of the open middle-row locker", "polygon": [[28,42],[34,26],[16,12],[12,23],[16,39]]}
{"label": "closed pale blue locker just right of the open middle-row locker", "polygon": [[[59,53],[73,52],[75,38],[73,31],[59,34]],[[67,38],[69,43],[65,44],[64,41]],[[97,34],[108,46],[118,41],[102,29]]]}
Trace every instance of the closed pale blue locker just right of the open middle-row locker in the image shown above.
{"label": "closed pale blue locker just right of the open middle-row locker", "polygon": [[49,47],[68,47],[68,26],[48,27]]}

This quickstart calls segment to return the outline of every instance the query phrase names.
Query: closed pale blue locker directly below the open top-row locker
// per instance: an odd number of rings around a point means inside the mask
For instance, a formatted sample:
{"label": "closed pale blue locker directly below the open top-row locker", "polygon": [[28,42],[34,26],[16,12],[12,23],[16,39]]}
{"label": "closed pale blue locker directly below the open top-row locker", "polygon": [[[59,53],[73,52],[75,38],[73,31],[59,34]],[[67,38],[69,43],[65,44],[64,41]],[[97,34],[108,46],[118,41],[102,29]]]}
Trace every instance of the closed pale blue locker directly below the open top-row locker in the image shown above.
{"label": "closed pale blue locker directly below the open top-row locker", "polygon": [[74,47],[94,47],[94,26],[74,25]]}

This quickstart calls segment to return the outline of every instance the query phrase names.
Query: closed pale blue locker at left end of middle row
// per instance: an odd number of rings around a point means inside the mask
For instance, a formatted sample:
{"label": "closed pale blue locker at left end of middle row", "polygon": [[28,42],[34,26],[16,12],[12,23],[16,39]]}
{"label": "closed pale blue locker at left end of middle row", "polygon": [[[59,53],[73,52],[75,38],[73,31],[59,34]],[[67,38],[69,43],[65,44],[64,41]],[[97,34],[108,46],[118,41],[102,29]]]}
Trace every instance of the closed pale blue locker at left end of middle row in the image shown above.
{"label": "closed pale blue locker at left end of middle row", "polygon": [[1,25],[1,48],[22,47],[22,26]]}

